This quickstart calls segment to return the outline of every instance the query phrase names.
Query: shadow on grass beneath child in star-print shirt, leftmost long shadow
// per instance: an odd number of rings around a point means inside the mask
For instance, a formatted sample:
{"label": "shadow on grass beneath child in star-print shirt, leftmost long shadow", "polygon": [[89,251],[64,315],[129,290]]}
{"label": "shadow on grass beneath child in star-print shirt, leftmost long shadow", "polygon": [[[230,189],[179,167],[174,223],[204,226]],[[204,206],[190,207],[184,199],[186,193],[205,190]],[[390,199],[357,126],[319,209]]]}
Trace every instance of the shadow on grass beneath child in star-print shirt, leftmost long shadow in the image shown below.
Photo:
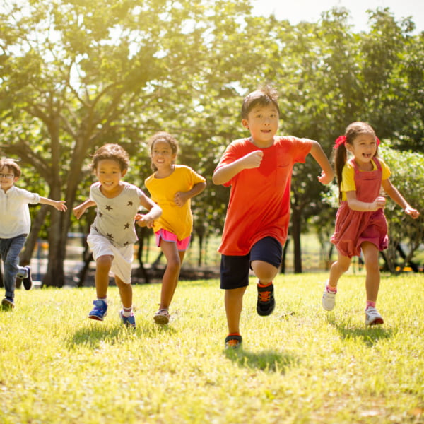
{"label": "shadow on grass beneath child in star-print shirt, leftmost long shadow", "polygon": [[113,345],[131,338],[153,338],[164,332],[175,332],[170,326],[158,326],[148,322],[137,322],[136,329],[126,328],[120,322],[116,326],[85,326],[75,331],[67,341],[69,349],[87,346],[98,349],[103,343]]}

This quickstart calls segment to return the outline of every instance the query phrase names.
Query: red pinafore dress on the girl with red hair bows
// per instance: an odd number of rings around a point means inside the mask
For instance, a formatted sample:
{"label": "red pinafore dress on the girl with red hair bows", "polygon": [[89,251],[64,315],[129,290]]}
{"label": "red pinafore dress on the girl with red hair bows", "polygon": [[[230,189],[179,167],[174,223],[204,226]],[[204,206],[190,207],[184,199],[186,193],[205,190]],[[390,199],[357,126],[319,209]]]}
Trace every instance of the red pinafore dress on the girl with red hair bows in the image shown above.
{"label": "red pinafore dress on the girl with red hair bows", "polygon": [[[371,203],[379,196],[382,185],[382,165],[373,158],[377,170],[360,171],[355,163],[356,199]],[[352,211],[347,201],[341,201],[336,214],[336,228],[331,236],[331,242],[336,245],[340,254],[346,257],[360,256],[360,245],[371,242],[380,251],[387,249],[387,221],[383,209],[377,211]]]}

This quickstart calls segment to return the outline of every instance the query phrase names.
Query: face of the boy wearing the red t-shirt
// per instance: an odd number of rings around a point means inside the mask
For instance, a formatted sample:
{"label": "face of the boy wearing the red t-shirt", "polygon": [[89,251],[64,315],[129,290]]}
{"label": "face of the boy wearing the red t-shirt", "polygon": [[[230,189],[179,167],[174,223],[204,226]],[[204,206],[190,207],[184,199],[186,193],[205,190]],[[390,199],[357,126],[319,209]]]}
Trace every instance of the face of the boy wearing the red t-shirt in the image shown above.
{"label": "face of the boy wearing the red t-shirt", "polygon": [[278,110],[274,105],[258,105],[249,112],[247,119],[242,119],[242,125],[249,129],[255,146],[266,148],[273,144],[278,119]]}

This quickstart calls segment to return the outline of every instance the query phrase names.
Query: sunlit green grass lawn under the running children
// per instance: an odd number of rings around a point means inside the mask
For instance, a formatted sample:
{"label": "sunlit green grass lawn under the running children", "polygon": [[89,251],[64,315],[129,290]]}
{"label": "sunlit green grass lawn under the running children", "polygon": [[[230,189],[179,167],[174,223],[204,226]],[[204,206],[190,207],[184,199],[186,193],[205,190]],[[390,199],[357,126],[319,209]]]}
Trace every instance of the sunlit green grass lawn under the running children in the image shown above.
{"label": "sunlit green grass lawn under the running children", "polygon": [[163,328],[160,285],[134,287],[135,331],[114,287],[104,322],[86,318],[93,288],[18,290],[0,310],[0,423],[423,423],[424,276],[384,276],[370,329],[364,276],[343,276],[330,313],[325,278],[278,276],[270,317],[252,280],[230,352],[218,281],[180,283]]}

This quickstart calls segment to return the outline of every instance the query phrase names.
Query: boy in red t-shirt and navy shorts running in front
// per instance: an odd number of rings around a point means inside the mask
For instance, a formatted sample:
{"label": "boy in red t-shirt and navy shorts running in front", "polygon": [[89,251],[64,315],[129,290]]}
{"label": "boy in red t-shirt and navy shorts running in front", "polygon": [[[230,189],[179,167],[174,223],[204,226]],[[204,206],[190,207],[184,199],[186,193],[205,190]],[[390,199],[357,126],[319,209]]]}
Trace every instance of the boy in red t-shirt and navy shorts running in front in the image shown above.
{"label": "boy in red t-shirt and navy shorts running in front", "polygon": [[240,314],[249,269],[258,278],[257,313],[266,316],[275,307],[273,278],[287,238],[293,165],[304,163],[311,153],[322,167],[319,182],[329,184],[334,177],[317,141],[276,136],[279,113],[274,88],[265,86],[247,95],[242,104],[242,126],[250,131],[250,137],[232,141],[213,172],[215,184],[231,186],[218,248],[228,322],[225,348],[239,348],[242,343]]}

